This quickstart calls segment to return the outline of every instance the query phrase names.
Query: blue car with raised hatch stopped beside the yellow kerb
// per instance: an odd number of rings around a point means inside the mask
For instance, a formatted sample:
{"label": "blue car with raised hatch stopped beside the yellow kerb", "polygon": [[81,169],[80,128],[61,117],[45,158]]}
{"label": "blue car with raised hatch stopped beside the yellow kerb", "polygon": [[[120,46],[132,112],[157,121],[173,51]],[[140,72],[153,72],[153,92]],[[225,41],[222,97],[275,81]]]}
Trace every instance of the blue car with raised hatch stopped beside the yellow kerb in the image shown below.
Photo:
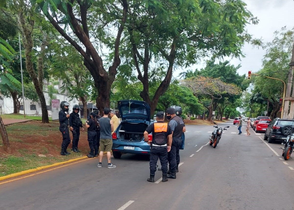
{"label": "blue car with raised hatch stopped beside the yellow kerb", "polygon": [[[125,153],[149,155],[150,146],[144,141],[143,135],[152,123],[149,104],[139,100],[120,100],[118,110],[121,123],[112,134],[113,157],[121,158]],[[149,138],[152,139],[151,134]]]}

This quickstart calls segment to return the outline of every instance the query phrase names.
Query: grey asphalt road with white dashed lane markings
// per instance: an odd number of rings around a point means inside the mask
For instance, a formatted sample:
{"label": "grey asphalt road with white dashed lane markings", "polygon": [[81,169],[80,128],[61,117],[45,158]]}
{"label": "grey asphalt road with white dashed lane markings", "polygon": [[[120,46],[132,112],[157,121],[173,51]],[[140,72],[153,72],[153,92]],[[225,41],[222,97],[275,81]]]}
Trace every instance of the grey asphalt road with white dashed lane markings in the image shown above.
{"label": "grey asphalt road with white dashed lane markings", "polygon": [[[187,125],[175,180],[147,182],[145,156],[125,154],[116,168],[98,158],[0,182],[0,209],[294,209],[294,159],[281,160],[280,144],[263,134],[238,135],[233,121],[214,149],[212,126]],[[205,146],[206,145],[206,146]],[[159,163],[158,163],[159,165]]]}

